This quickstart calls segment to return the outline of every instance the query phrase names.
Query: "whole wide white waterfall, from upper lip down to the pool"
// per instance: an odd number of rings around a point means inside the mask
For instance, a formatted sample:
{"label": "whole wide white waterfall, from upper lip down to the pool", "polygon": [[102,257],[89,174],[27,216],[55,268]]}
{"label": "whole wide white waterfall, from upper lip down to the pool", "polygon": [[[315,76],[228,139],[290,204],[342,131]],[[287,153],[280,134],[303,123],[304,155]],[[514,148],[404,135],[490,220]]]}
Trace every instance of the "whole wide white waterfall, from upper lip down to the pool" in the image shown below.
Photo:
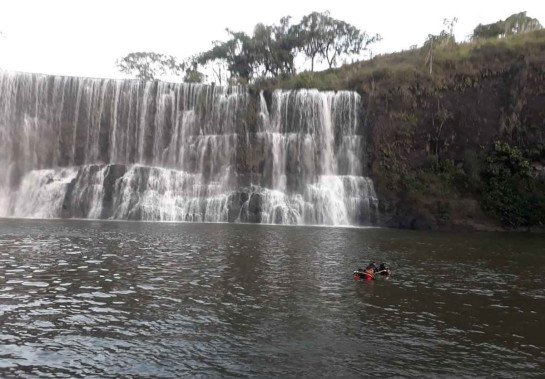
{"label": "whole wide white waterfall, from upper lip down to the pool", "polygon": [[354,92],[0,72],[0,216],[369,224]]}

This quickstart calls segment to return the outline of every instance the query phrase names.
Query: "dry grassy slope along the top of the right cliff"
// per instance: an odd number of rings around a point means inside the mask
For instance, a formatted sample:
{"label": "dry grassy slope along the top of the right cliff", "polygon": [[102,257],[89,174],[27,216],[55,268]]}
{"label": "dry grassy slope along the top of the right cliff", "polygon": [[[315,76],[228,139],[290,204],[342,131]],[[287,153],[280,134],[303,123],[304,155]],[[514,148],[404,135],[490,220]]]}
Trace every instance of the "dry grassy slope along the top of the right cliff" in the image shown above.
{"label": "dry grassy slope along the top of the right cliff", "polygon": [[545,30],[506,38],[474,39],[470,42],[440,44],[434,49],[434,70],[429,74],[426,64],[428,50],[421,48],[378,55],[368,61],[344,65],[321,72],[303,72],[289,77],[265,78],[256,83],[260,89],[354,90],[368,92],[373,81],[391,79],[404,84],[418,80],[436,83],[449,80],[453,74],[472,74],[483,68],[509,65],[517,57],[544,52]]}

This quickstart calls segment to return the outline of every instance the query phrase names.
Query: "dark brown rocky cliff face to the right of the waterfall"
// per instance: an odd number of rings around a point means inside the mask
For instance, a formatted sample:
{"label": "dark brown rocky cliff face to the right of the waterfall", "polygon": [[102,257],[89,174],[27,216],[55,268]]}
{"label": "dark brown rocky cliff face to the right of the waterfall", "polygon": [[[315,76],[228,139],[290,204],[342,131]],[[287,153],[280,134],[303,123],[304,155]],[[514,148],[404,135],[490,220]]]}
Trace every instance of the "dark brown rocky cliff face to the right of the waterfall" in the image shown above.
{"label": "dark brown rocky cliff face to the right of the waterfall", "polygon": [[[370,175],[385,224],[489,230],[545,223],[528,216],[516,225],[509,214],[533,207],[542,212],[537,167],[545,162],[545,41],[513,49],[477,47],[464,60],[439,60],[434,75],[391,75],[377,73],[361,88],[371,126]],[[536,168],[530,175],[537,181],[513,189],[533,204],[515,206],[526,210],[511,207],[506,213],[509,194],[501,204],[486,201],[493,179],[487,170],[498,141]],[[529,186],[533,193],[522,188]]]}

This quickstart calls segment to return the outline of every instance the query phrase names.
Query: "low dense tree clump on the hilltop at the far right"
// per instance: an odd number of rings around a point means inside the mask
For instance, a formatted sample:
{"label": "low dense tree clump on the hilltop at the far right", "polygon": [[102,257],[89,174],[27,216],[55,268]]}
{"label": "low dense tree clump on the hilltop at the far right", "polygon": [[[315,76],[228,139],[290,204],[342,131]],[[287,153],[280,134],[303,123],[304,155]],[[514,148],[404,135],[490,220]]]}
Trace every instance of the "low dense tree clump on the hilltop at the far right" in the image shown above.
{"label": "low dense tree clump on the hilltop at the far right", "polygon": [[526,33],[533,30],[539,30],[543,27],[535,18],[526,16],[526,12],[512,14],[504,20],[496,21],[492,24],[479,24],[473,30],[473,39],[479,38],[498,38],[520,33]]}

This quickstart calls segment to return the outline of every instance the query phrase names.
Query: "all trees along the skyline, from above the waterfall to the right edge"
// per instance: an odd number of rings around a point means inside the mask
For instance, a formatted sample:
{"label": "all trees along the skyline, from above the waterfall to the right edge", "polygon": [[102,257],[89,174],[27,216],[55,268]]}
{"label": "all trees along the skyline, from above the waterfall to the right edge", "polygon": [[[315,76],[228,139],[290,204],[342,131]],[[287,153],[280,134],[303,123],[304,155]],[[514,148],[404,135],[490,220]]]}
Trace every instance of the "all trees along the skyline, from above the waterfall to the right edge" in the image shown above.
{"label": "all trees along the skyline, from above the waterfall to the right edge", "polygon": [[[445,44],[455,44],[454,26],[457,18],[445,19],[441,33],[428,35],[424,49],[428,51],[426,64],[430,74],[433,69],[434,49]],[[526,12],[509,16],[492,24],[479,24],[472,40],[503,38],[541,29],[535,18]],[[291,17],[282,17],[278,24],[254,27],[253,34],[226,29],[226,41],[214,41],[210,50],[198,53],[183,61],[173,56],[155,52],[134,52],[117,61],[122,73],[142,80],[159,76],[183,76],[185,82],[200,83],[210,74],[209,81],[222,84],[250,83],[259,78],[286,77],[297,73],[298,56],[310,61],[310,71],[315,63],[326,63],[334,68],[343,60],[358,57],[369,46],[382,39],[370,35],[345,21],[333,18],[329,12],[313,12],[299,23],[292,24]]]}

